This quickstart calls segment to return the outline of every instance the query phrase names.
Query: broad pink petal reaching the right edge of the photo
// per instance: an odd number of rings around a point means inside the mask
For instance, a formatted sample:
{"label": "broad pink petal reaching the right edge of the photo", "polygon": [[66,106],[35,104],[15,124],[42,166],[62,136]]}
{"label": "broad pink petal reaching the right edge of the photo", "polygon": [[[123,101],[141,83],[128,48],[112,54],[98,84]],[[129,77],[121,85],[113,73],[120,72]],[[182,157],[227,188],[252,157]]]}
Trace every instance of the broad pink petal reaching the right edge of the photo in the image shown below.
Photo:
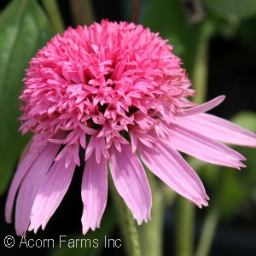
{"label": "broad pink petal reaching the right edge of the photo", "polygon": [[177,118],[176,122],[220,142],[256,147],[256,135],[253,132],[212,114],[199,113]]}

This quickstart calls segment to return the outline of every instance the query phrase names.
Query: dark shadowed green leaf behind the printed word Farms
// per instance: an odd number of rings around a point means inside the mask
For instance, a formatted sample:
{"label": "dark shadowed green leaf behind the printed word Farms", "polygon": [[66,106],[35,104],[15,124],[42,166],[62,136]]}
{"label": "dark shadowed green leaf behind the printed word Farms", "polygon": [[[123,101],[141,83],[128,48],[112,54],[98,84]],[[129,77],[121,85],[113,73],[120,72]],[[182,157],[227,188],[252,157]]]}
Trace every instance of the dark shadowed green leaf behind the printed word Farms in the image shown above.
{"label": "dark shadowed green leaf behind the printed word Farms", "polygon": [[[108,207],[102,218],[102,224],[96,231],[90,231],[88,234],[83,236],[81,233],[73,234],[69,236],[61,237],[62,242],[58,247],[55,247],[50,253],[50,256],[80,256],[90,255],[98,256],[101,255],[104,247],[110,246],[109,241],[113,241],[111,234],[116,224],[116,217],[114,215],[113,207]],[[117,238],[119,239],[119,238]],[[117,241],[117,239],[115,241]],[[121,246],[120,246],[121,245]],[[117,241],[118,247],[113,249],[120,249],[122,247],[122,241]],[[120,247],[119,247],[120,246]]]}

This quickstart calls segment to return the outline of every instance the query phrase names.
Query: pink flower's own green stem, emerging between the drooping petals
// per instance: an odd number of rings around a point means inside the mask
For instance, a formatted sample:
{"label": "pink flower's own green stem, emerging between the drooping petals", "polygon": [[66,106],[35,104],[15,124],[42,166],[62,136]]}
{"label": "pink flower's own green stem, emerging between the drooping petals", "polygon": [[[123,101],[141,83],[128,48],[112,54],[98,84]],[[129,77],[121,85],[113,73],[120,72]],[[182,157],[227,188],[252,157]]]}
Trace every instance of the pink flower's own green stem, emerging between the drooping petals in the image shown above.
{"label": "pink flower's own green stem, emerging between the drooping petals", "polygon": [[137,224],[126,206],[123,199],[119,196],[114,187],[113,181],[109,178],[109,189],[113,198],[113,203],[119,217],[119,227],[124,238],[125,250],[128,256],[141,256],[141,247],[137,232]]}

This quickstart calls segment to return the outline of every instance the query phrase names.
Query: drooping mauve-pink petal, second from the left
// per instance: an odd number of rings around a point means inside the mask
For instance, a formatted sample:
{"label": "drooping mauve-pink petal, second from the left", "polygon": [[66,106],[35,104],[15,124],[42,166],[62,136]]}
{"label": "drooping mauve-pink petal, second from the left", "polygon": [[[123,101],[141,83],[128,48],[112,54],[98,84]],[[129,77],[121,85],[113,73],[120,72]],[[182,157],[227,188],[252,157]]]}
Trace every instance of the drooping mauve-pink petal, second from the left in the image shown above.
{"label": "drooping mauve-pink petal, second from the left", "polygon": [[15,211],[15,230],[18,236],[26,234],[33,202],[59,148],[60,145],[49,143],[34,161],[20,184]]}

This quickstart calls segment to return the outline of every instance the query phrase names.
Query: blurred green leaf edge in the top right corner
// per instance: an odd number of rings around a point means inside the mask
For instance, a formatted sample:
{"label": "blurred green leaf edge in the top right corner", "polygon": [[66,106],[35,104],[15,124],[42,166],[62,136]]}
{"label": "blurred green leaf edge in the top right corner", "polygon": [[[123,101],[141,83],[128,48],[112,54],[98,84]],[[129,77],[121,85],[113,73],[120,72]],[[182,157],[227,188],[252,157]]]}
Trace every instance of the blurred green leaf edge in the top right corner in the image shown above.
{"label": "blurred green leaf edge in the top right corner", "polygon": [[226,17],[247,18],[256,14],[255,0],[205,0],[207,8],[213,13]]}

